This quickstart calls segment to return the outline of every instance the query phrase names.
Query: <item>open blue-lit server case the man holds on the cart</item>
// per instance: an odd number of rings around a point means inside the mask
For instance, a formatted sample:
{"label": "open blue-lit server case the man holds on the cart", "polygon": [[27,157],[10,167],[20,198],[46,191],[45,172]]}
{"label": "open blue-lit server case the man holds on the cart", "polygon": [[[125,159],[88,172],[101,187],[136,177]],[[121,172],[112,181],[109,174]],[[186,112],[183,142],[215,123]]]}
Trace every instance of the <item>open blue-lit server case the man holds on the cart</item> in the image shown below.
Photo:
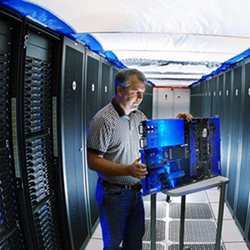
{"label": "open blue-lit server case the man holds on the cart", "polygon": [[143,194],[169,190],[221,174],[218,117],[146,120],[140,125]]}

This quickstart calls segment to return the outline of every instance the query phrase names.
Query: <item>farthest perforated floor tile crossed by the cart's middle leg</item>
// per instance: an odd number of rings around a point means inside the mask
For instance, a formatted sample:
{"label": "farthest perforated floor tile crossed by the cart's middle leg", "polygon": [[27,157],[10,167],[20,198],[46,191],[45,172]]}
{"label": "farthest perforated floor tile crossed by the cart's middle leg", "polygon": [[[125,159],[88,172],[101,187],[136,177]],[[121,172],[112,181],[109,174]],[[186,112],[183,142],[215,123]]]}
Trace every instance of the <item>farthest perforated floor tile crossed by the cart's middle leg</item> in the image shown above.
{"label": "farthest perforated floor tile crossed by the cart's middle leg", "polygon": [[[181,206],[179,203],[169,204],[169,217],[179,219]],[[185,218],[187,219],[211,219],[212,211],[206,203],[187,203],[185,209]]]}

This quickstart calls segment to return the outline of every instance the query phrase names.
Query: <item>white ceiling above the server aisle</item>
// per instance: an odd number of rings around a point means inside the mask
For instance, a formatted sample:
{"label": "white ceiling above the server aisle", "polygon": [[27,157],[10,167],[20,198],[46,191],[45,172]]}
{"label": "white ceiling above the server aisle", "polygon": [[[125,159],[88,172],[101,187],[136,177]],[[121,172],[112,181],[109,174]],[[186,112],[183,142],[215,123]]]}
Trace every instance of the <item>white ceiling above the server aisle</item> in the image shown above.
{"label": "white ceiling above the server aisle", "polygon": [[249,0],[32,0],[156,85],[187,86],[250,47]]}

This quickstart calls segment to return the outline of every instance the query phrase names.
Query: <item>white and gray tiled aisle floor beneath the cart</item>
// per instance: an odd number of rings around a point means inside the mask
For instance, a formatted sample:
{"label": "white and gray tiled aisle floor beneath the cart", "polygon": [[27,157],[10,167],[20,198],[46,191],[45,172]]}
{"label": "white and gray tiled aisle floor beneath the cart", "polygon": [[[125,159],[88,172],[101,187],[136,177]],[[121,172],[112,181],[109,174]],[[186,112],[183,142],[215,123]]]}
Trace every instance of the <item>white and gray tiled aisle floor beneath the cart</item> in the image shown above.
{"label": "white and gray tiled aisle floor beneath the cart", "polygon": [[[219,190],[217,188],[195,193],[186,199],[186,234],[185,244],[191,249],[213,250],[216,232],[216,218],[219,205]],[[144,235],[144,250],[150,250],[149,238],[149,197],[144,200],[146,211],[146,232]],[[178,250],[180,198],[172,198],[166,202],[166,195],[157,194],[157,250]],[[226,204],[224,209],[223,249],[247,250],[247,245],[235,224]],[[97,227],[86,250],[101,250],[102,236],[100,226]]]}

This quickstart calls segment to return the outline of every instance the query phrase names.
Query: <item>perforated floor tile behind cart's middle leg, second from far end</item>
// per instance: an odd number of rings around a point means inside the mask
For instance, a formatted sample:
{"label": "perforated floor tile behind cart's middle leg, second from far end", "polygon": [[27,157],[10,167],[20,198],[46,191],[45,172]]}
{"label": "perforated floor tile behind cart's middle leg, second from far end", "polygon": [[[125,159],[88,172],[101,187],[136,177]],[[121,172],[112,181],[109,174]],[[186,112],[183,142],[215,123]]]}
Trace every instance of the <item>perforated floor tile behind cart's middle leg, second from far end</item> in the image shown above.
{"label": "perforated floor tile behind cart's middle leg, second from far end", "polygon": [[[169,240],[179,242],[179,221],[169,222]],[[213,221],[185,221],[185,242],[215,242],[216,226]]]}

